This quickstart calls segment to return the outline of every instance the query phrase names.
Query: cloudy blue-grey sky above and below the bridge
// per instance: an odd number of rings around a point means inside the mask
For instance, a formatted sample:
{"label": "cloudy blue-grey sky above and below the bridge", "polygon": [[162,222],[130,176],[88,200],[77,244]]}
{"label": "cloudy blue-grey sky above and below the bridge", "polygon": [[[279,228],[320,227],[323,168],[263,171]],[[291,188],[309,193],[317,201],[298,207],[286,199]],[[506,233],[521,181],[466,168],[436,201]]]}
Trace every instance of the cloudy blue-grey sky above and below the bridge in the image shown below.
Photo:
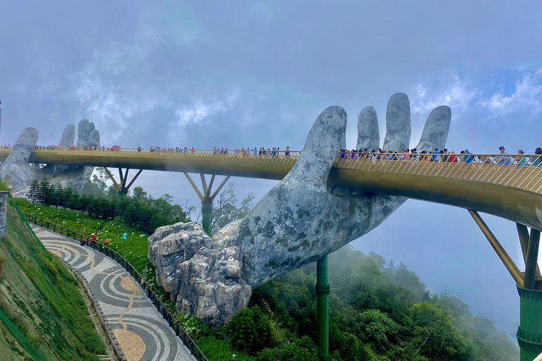
{"label": "cloudy blue-grey sky above and below the bridge", "polygon": [[[542,146],[539,0],[1,0],[0,34],[1,144],[26,126],[58,144],[86,118],[102,145],[301,149],[339,105],[354,148],[361,109],[375,107],[383,140],[387,99],[405,92],[411,146],[439,105],[452,109],[450,150]],[[256,201],[276,184],[232,182]],[[198,204],[180,173],[145,171],[135,185]],[[521,266],[515,225],[483,218]],[[352,245],[515,334],[514,281],[466,210],[409,200]]]}

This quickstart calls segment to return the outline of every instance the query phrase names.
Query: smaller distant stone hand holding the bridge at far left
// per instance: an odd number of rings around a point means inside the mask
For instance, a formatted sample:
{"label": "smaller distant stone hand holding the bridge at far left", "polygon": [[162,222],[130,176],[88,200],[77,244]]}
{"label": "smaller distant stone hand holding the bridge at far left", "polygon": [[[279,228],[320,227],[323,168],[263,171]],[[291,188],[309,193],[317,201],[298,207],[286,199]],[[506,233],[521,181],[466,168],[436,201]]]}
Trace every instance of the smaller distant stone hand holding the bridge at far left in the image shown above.
{"label": "smaller distant stone hand holding the bridge at far left", "polygon": [[[59,146],[71,147],[76,136],[76,126],[69,124],[64,129]],[[61,166],[48,164],[37,169],[28,164],[30,153],[36,145],[38,133],[35,128],[25,128],[19,139],[13,145],[11,154],[0,168],[0,178],[4,179],[16,196],[25,196],[30,183],[47,176],[52,184],[62,185],[63,188],[73,188],[79,191],[88,181],[94,167],[91,166]],[[78,124],[77,147],[100,147],[100,132],[94,123],[83,119]]]}

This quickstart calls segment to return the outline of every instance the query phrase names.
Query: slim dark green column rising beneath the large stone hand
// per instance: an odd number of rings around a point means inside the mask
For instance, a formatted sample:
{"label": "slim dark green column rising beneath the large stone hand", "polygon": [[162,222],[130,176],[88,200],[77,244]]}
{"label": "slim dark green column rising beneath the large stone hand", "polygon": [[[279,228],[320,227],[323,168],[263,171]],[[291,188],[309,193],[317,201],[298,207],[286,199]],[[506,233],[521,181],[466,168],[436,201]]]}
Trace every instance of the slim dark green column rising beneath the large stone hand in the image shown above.
{"label": "slim dark green column rising beneath the large stone hand", "polygon": [[316,336],[318,338],[318,348],[324,356],[330,353],[329,311],[327,310],[327,295],[329,294],[327,255],[325,255],[316,261]]}

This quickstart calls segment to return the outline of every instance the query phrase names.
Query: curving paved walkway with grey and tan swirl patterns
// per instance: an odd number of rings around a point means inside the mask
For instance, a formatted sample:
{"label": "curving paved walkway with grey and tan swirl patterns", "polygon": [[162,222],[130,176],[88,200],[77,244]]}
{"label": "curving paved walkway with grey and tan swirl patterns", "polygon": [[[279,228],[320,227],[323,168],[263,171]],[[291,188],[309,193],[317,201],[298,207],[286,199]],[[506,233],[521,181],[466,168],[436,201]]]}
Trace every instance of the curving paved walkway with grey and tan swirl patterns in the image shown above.
{"label": "curving paved walkway with grey and tan swirl patterns", "polygon": [[47,250],[76,269],[95,298],[128,361],[194,361],[190,351],[113,259],[63,235],[32,225]]}

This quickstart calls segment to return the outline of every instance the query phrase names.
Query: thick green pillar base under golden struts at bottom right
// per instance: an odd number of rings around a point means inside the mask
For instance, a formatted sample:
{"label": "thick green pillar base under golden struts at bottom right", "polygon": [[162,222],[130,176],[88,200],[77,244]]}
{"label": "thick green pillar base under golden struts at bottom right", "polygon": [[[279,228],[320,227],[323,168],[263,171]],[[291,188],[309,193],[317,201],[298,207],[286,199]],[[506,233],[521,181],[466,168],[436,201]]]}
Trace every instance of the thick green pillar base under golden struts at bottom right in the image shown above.
{"label": "thick green pillar base under golden struts at bottom right", "polygon": [[519,328],[517,343],[521,361],[533,361],[542,353],[542,290],[517,287],[519,293]]}

